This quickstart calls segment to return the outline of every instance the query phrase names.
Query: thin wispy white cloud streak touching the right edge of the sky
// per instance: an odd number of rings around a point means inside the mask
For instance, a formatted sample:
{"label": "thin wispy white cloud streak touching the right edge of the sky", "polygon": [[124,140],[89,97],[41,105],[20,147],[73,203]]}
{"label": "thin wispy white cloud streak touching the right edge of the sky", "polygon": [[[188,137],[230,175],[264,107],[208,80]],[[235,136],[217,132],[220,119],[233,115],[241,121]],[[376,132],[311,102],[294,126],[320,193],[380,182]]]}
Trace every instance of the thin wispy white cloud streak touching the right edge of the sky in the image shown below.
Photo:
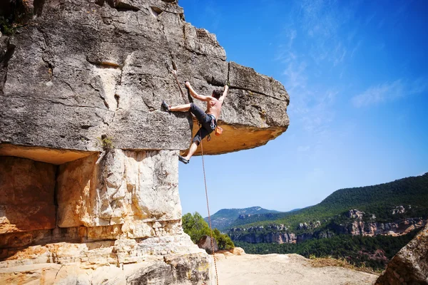
{"label": "thin wispy white cloud streak touching the right edge of the sky", "polygon": [[399,79],[371,86],[363,93],[355,95],[351,100],[355,107],[360,108],[397,100],[407,95],[422,93],[427,90],[427,87],[427,78],[418,78],[412,82]]}

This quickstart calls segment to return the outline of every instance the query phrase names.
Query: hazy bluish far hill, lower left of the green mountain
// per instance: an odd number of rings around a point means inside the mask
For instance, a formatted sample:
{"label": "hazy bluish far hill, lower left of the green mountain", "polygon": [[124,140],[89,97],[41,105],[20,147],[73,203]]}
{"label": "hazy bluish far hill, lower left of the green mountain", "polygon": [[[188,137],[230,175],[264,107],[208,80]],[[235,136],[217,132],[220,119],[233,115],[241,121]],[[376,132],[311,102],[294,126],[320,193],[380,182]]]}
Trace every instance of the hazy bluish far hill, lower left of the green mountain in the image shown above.
{"label": "hazy bluish far hill, lower left of the green mountain", "polygon": [[[280,213],[272,209],[263,209],[262,207],[249,207],[245,209],[220,209],[211,216],[211,224],[213,228],[226,229],[232,224],[235,219],[248,219],[254,215],[260,214],[276,214]],[[205,218],[208,222],[208,217]]]}

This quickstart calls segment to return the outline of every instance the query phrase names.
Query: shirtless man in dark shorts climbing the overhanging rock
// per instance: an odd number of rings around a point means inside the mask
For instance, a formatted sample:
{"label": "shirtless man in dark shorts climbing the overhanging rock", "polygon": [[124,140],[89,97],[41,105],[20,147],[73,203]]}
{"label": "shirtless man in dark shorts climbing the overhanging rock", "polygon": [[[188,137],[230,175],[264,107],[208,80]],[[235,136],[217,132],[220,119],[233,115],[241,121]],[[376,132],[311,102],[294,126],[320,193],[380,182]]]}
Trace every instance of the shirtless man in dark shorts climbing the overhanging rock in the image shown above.
{"label": "shirtless man in dark shorts climbing the overhanging rock", "polygon": [[186,155],[185,157],[178,155],[178,160],[180,160],[180,162],[188,164],[190,162],[190,157],[192,157],[192,155],[198,149],[200,141],[203,140],[203,138],[205,138],[207,135],[212,133],[213,130],[215,130],[215,127],[217,126],[217,120],[220,117],[221,105],[223,105],[226,95],[228,94],[229,86],[225,86],[223,94],[220,90],[213,90],[213,94],[210,96],[199,95],[195,92],[195,90],[193,90],[192,86],[190,86],[190,83],[188,82],[185,83],[185,86],[189,88],[190,95],[192,95],[193,98],[205,101],[207,103],[206,112],[201,110],[197,105],[193,103],[170,107],[167,103],[165,103],[165,101],[163,101],[162,107],[170,112],[187,112],[188,110],[190,110],[190,112],[195,115],[195,117],[201,124],[198,133],[196,133],[195,137],[192,140],[188,155]]}

